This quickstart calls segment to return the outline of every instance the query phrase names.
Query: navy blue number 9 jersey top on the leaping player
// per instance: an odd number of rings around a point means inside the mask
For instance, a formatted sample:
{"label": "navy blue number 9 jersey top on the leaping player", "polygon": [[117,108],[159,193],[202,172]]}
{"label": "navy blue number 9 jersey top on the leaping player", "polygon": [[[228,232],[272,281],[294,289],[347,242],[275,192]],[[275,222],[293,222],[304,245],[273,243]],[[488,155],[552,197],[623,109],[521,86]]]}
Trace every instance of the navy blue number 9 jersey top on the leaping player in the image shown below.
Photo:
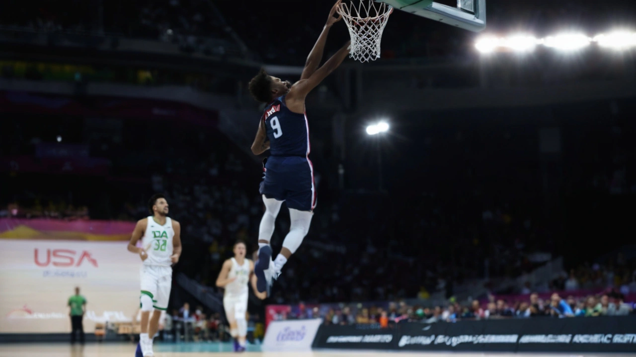
{"label": "navy blue number 9 jersey top on the leaping player", "polygon": [[267,138],[272,156],[309,155],[309,125],[305,114],[294,113],[287,108],[285,96],[274,99],[265,107]]}

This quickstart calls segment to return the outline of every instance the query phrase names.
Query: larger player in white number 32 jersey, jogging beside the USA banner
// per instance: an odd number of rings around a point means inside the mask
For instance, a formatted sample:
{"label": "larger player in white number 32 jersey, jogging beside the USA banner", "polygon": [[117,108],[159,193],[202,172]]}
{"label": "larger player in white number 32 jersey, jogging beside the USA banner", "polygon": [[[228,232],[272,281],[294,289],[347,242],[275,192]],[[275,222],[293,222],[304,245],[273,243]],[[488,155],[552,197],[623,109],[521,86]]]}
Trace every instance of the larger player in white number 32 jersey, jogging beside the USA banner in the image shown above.
{"label": "larger player in white number 32 jersey, jogging beside the USA banner", "polygon": [[[168,202],[162,194],[148,201],[153,215],[139,220],[132,232],[128,251],[139,254],[141,261],[141,334],[135,357],[154,356],[153,337],[159,329],[162,311],[168,308],[172,287],[172,264],[181,256],[181,224],[170,219]],[[141,248],[137,241],[141,239]],[[153,311],[150,318],[150,312]]]}

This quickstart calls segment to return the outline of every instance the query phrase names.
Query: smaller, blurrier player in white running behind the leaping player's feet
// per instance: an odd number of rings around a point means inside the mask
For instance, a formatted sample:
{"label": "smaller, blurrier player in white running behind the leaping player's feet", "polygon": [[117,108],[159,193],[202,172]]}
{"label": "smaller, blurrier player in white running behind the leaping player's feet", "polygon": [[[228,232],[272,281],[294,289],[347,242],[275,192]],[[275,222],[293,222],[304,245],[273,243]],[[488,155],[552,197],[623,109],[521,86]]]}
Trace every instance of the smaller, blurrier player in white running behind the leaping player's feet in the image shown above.
{"label": "smaller, blurrier player in white running behind the leaping player's feet", "polygon": [[247,247],[242,241],[235,243],[234,257],[223,262],[223,268],[216,279],[216,286],[224,288],[223,307],[225,315],[230,323],[230,335],[234,338],[234,351],[245,351],[247,339],[247,298],[249,288],[247,283],[251,281],[254,293],[259,299],[265,299],[267,293],[259,293],[256,290],[256,276],[254,275],[254,262],[245,259]]}

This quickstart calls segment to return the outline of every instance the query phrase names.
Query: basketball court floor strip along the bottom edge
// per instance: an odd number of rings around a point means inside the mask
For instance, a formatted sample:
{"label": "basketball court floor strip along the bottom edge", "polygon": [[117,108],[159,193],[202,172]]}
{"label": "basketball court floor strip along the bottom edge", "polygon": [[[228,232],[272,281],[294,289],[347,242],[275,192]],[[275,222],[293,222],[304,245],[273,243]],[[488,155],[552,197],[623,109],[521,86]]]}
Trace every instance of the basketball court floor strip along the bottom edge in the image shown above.
{"label": "basketball court floor strip along the bottom edge", "polygon": [[[249,346],[249,351],[241,354],[233,353],[230,344],[166,344],[157,345],[155,357],[386,357],[397,354],[401,357],[422,356],[424,353],[373,352],[373,351],[312,351],[312,352],[260,352],[260,346]],[[132,357],[135,346],[132,344],[86,344],[86,346],[69,346],[69,344],[0,344],[0,357]],[[534,354],[505,353],[430,353],[434,357],[532,357]],[[537,354],[536,356],[564,356],[566,354]],[[634,354],[576,354],[576,357],[636,357]]]}

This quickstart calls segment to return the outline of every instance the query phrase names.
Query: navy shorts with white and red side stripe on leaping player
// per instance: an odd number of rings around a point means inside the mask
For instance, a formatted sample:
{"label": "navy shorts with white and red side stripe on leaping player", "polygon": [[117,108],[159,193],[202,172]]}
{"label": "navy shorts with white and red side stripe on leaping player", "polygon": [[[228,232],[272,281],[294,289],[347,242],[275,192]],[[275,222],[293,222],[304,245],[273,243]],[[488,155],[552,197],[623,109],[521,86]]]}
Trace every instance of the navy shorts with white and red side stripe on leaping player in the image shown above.
{"label": "navy shorts with white and red side stripe on leaping player", "polygon": [[259,192],[266,198],[285,201],[287,208],[313,211],[316,192],[312,162],[303,156],[270,156]]}

